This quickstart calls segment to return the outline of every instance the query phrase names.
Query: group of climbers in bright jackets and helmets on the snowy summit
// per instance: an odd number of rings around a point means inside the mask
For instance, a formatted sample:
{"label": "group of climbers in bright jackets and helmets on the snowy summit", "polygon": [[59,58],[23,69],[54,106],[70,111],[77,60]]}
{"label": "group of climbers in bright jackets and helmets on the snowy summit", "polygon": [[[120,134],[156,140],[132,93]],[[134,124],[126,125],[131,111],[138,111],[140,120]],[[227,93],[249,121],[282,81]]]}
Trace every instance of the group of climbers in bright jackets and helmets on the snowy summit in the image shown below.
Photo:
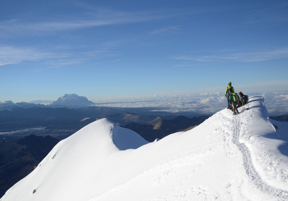
{"label": "group of climbers in bright jackets and helmets on the snowy summit", "polygon": [[[239,98],[239,96],[241,98]],[[230,109],[233,111],[233,115],[238,114],[238,107],[241,107],[241,105],[245,105],[248,102],[248,96],[244,95],[242,92],[239,93],[234,92],[234,87],[231,85],[231,82],[228,82],[228,87],[226,88],[225,97],[227,97],[228,107],[227,109]]]}

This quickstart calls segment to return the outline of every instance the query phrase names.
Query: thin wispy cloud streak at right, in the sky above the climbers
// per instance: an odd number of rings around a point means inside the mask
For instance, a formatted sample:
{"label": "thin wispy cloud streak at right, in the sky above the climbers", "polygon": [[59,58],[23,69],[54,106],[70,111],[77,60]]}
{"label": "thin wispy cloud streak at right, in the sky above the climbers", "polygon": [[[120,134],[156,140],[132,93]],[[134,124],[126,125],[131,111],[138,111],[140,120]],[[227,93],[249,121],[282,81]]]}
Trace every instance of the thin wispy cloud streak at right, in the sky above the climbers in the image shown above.
{"label": "thin wispy cloud streak at right, in the sky above the climbers", "polygon": [[222,52],[221,55],[185,55],[174,57],[174,59],[194,60],[194,61],[240,61],[240,62],[256,62],[256,61],[268,61],[274,59],[288,58],[288,48],[276,49],[271,51],[255,51],[255,52],[240,52],[230,53]]}

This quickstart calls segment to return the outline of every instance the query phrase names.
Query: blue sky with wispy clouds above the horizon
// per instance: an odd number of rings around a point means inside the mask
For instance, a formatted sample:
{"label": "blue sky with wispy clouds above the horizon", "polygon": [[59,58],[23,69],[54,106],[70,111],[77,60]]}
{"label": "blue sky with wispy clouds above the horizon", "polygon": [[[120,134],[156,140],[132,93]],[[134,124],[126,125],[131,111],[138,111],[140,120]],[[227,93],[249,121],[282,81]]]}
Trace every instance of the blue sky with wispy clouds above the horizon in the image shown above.
{"label": "blue sky with wispy clouds above the horizon", "polygon": [[0,101],[288,91],[287,1],[1,1]]}

